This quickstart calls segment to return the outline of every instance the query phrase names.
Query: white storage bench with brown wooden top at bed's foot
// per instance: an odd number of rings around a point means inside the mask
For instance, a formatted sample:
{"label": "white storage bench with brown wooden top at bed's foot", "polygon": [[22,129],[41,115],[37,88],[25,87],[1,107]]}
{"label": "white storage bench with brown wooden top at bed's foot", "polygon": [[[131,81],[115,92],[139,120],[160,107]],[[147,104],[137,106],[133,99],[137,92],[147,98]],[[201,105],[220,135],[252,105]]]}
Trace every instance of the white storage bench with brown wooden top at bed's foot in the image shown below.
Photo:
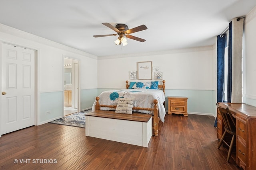
{"label": "white storage bench with brown wooden top at bed's foot", "polygon": [[152,137],[152,115],[122,114],[96,110],[85,114],[85,135],[148,147]]}

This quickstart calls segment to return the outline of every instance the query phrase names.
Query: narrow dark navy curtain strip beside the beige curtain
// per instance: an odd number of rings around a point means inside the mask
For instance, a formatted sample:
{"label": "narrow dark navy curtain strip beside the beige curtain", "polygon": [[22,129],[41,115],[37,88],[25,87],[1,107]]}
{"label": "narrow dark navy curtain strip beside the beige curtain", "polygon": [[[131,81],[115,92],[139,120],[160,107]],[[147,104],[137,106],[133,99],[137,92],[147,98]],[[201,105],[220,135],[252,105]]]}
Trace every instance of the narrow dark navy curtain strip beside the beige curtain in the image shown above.
{"label": "narrow dark navy curtain strip beside the beige curtain", "polygon": [[229,23],[228,35],[228,99],[225,102],[231,102],[232,92],[232,22]]}

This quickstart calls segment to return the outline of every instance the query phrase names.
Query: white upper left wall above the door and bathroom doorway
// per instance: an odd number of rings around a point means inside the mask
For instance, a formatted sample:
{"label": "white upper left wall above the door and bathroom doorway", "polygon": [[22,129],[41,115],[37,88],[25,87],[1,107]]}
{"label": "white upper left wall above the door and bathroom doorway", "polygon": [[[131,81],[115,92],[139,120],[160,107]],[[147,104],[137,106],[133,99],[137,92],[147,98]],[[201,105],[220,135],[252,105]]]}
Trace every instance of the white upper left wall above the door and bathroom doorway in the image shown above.
{"label": "white upper left wall above the door and bathroom doorway", "polygon": [[[0,41],[38,51],[38,91],[63,90],[64,57],[80,61],[80,89],[97,88],[97,57],[0,24]],[[89,71],[88,71],[89,70]]]}

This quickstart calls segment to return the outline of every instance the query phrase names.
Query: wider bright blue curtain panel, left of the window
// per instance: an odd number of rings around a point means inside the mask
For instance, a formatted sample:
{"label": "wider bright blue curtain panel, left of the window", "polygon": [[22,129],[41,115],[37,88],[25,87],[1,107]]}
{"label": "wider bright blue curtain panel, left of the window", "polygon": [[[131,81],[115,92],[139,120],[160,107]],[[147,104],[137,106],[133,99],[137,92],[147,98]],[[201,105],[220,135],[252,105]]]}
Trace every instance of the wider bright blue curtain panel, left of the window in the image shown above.
{"label": "wider bright blue curtain panel, left of the window", "polygon": [[[223,84],[224,84],[224,54],[225,54],[226,34],[217,37],[217,102],[223,102]],[[214,127],[217,127],[217,118]]]}

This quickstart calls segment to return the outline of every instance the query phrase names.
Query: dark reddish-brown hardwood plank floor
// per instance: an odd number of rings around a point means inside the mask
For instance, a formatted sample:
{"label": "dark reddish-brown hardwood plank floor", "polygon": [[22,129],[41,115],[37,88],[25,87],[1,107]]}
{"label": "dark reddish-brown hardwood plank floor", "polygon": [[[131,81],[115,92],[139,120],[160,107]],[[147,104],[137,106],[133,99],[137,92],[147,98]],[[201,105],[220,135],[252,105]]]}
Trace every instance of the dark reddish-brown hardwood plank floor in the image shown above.
{"label": "dark reddish-brown hardwood plank floor", "polygon": [[212,116],[166,115],[158,134],[144,148],[46,123],[2,135],[0,169],[238,170],[232,158],[226,162],[226,149],[217,149]]}

